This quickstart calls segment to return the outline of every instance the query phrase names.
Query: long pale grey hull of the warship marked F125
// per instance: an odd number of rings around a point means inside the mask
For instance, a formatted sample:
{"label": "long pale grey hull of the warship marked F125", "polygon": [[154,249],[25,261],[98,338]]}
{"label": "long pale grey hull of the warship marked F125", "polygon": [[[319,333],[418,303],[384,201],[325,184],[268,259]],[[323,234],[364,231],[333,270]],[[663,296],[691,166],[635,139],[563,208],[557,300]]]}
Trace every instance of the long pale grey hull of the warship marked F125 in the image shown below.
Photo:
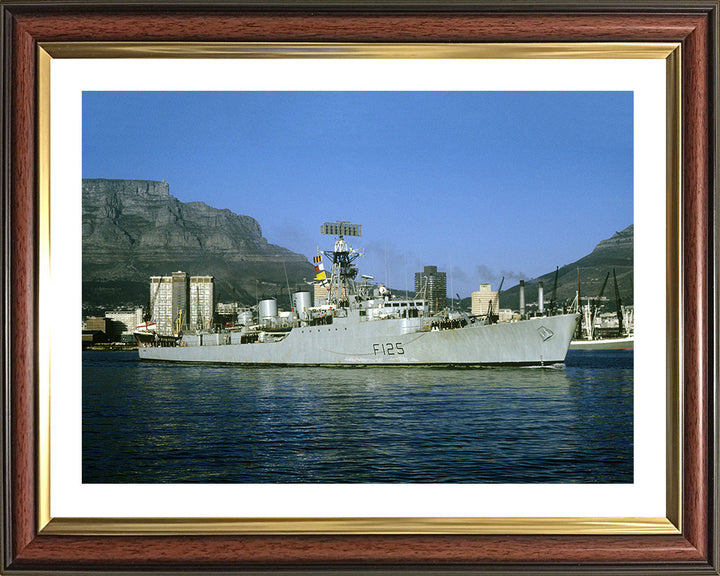
{"label": "long pale grey hull of the warship marked F125", "polygon": [[578,315],[433,329],[428,318],[363,321],[352,313],[329,325],[295,327],[280,339],[234,343],[230,334],[141,346],[141,360],[281,366],[492,366],[562,363]]}

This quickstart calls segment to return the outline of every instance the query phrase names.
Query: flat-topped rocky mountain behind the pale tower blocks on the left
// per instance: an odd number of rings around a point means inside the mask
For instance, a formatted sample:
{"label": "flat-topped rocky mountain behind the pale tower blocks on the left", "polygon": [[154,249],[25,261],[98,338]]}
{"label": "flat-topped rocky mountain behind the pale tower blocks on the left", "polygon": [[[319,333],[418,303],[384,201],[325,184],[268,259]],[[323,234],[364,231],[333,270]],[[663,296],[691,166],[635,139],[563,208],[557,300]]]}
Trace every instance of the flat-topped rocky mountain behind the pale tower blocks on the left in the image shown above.
{"label": "flat-topped rocky mountain behind the pale tower blocks on the left", "polygon": [[254,218],[180,202],[165,181],[84,179],[82,205],[83,306],[145,305],[150,276],[177,270],[212,275],[217,301],[246,304],[314,277],[305,256],[269,244]]}

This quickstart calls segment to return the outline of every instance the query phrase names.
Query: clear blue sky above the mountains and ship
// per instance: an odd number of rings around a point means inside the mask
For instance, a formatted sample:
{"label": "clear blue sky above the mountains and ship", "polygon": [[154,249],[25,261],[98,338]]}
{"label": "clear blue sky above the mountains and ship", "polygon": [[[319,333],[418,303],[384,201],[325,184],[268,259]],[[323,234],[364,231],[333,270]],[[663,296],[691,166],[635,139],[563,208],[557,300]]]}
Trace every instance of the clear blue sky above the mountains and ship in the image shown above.
{"label": "clear blue sky above the mountains and ship", "polygon": [[309,259],[363,225],[361,273],[504,288],[633,223],[631,92],[85,92],[83,177],[166,180]]}

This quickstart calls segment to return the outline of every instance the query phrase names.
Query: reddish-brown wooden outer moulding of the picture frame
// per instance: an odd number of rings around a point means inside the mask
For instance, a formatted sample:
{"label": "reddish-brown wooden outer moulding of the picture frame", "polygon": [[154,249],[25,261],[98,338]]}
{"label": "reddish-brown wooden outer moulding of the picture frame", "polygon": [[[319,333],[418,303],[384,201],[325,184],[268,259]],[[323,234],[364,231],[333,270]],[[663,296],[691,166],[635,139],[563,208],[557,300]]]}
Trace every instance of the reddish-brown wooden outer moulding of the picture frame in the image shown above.
{"label": "reddish-brown wooden outer moulding of the picture frame", "polygon": [[[2,15],[3,563],[7,573],[472,572],[717,574],[718,2],[290,3],[10,0]],[[83,42],[679,43],[677,222],[682,350],[676,366],[680,528],[660,534],[199,533],[120,525],[105,534],[41,522],[37,191],[47,145],[37,87],[42,46]],[[674,168],[670,168],[673,170]],[[668,258],[672,258],[671,255]],[[669,491],[672,491],[672,486]],[[669,507],[672,508],[672,498]],[[671,513],[669,513],[672,516]],[[66,526],[67,529],[67,526]],[[263,532],[263,531],[260,531]],[[409,530],[412,532],[412,530]],[[110,535],[112,534],[112,535]]]}

